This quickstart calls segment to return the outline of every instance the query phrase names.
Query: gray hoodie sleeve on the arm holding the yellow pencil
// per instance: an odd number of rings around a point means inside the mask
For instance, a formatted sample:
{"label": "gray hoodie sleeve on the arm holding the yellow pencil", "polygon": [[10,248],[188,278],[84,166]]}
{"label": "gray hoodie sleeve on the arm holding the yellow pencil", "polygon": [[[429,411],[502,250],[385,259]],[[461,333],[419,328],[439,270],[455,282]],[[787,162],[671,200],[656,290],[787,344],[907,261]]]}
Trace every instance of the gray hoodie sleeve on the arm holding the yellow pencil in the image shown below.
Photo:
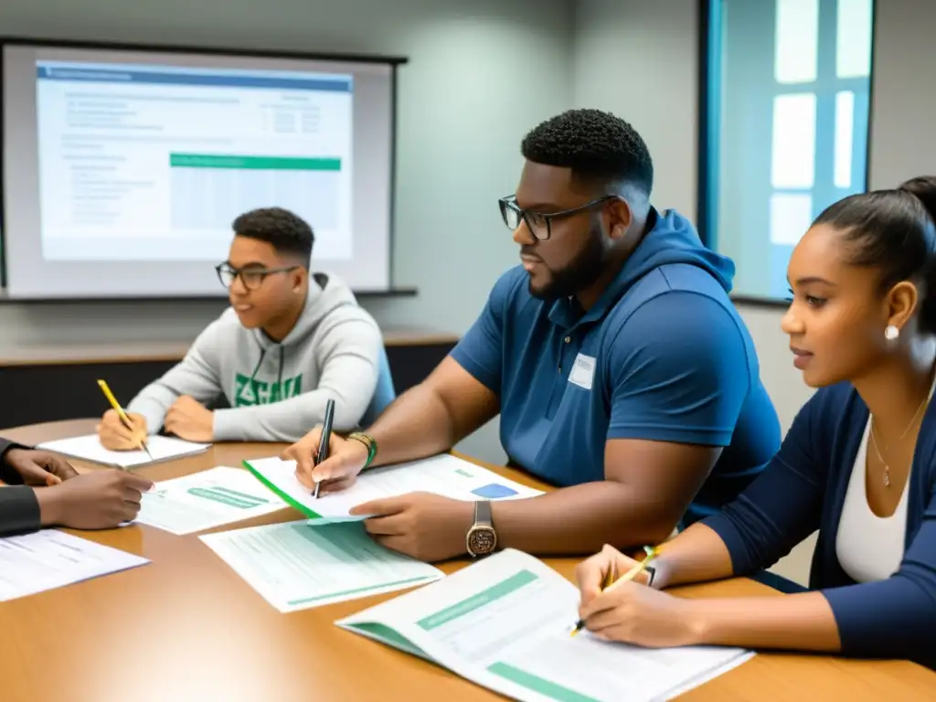
{"label": "gray hoodie sleeve on the arm holding the yellow pencil", "polygon": [[159,380],[139,391],[127,406],[127,412],[146,417],[146,428],[156,433],[163,427],[169,407],[182,395],[190,395],[205,404],[222,393],[218,363],[218,336],[224,317],[216,319],[198,334],[195,343],[179,363]]}

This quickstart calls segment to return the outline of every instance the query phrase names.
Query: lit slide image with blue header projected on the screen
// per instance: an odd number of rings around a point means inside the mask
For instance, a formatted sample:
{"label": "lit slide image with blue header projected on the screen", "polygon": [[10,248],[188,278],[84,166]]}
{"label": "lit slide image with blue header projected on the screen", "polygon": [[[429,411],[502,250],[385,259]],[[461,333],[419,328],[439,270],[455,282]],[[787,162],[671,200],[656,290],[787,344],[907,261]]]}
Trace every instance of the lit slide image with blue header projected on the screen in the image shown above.
{"label": "lit slide image with blue header projected on the screen", "polygon": [[353,254],[354,77],[61,61],[36,64],[48,261],[204,260],[276,205]]}

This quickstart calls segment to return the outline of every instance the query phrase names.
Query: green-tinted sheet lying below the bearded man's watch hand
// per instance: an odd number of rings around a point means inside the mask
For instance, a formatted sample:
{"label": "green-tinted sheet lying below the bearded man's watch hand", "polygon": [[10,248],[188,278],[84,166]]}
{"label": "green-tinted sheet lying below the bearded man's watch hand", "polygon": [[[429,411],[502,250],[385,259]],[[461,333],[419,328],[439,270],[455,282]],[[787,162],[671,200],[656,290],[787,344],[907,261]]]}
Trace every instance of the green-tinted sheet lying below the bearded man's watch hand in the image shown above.
{"label": "green-tinted sheet lying below the bearded man's watch hand", "polygon": [[199,538],[281,612],[403,590],[444,575],[380,546],[360,523],[289,521]]}

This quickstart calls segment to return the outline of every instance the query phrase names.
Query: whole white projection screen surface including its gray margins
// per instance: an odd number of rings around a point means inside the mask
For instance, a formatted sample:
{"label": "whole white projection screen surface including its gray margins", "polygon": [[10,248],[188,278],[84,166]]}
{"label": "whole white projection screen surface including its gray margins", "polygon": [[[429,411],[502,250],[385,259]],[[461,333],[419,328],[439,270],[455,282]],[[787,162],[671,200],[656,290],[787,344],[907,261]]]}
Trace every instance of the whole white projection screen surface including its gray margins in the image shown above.
{"label": "whole white projection screen surface including its gray margins", "polygon": [[0,52],[8,298],[224,297],[265,207],[313,227],[313,271],[389,289],[398,59]]}

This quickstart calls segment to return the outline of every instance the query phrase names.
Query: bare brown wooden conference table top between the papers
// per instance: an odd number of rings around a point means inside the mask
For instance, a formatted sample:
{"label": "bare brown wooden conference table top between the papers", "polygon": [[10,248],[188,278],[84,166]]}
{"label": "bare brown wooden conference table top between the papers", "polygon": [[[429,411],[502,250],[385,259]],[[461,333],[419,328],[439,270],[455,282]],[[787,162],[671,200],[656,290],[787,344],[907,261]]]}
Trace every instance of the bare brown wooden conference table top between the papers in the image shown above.
{"label": "bare brown wooden conference table top between the papers", "polygon": [[[24,444],[94,431],[81,419],[0,432]],[[280,446],[227,444],[139,470],[154,480],[276,455]],[[93,468],[75,462],[80,470]],[[489,466],[492,467],[492,466]],[[534,487],[524,475],[492,467]],[[300,519],[292,510],[223,529]],[[501,699],[441,667],[333,625],[377,595],[281,614],[197,535],[146,526],[80,535],[144,556],[148,565],[0,604],[3,702],[292,702]],[[574,559],[548,563],[571,577]],[[465,563],[443,566],[446,572]],[[779,593],[746,578],[683,588],[687,596]],[[680,699],[915,700],[936,697],[936,674],[906,662],[764,653]]]}

